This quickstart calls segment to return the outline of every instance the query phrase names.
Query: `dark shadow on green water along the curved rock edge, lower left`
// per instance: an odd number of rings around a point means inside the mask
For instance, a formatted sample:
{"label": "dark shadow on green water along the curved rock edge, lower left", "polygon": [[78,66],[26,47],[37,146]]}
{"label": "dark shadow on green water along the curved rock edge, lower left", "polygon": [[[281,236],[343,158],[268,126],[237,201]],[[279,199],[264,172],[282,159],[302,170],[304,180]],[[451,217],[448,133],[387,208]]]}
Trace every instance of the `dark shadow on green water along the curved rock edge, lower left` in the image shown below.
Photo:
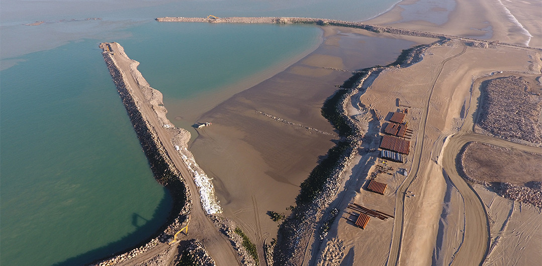
{"label": "dark shadow on green water along the curved rock edge, lower left", "polygon": [[[113,255],[122,254],[141,244],[146,243],[150,239],[160,235],[170,220],[171,210],[173,208],[173,199],[169,190],[164,189],[164,197],[154,210],[154,214],[150,220],[146,220],[139,214],[132,214],[132,225],[136,226],[134,232],[122,237],[120,240],[108,243],[104,247],[100,247],[81,255],[68,258],[67,260],[55,263],[55,266],[68,265],[84,265],[92,262],[101,261],[104,258],[112,257]],[[165,224],[165,225],[164,225]],[[74,236],[74,238],[77,236]]]}

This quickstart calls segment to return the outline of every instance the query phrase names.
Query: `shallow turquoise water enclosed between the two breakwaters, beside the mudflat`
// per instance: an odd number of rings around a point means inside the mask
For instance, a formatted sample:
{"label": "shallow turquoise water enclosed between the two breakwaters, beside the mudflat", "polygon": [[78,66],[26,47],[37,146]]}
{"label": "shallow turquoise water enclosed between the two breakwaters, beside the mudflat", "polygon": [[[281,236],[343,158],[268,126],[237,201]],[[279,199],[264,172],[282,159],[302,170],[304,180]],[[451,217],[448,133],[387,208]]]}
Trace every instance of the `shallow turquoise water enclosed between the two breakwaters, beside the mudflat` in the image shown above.
{"label": "shallow turquoise water enclosed between the two breakwaters, beside the mudflat", "polygon": [[287,61],[320,35],[304,25],[153,22],[120,44],[141,63],[151,87],[172,101],[212,93]]}

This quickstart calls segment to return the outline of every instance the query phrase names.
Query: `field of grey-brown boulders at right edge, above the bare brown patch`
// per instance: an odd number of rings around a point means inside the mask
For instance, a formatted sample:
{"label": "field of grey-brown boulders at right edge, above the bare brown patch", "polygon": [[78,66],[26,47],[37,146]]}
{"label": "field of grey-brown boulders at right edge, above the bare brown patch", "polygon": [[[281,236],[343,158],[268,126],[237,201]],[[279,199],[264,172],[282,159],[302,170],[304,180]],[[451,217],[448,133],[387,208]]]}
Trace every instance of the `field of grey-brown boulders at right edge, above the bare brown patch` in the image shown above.
{"label": "field of grey-brown boulders at right edge, above the bare brown patch", "polygon": [[529,92],[521,77],[502,77],[482,82],[483,100],[477,124],[488,134],[508,141],[542,145],[542,97]]}

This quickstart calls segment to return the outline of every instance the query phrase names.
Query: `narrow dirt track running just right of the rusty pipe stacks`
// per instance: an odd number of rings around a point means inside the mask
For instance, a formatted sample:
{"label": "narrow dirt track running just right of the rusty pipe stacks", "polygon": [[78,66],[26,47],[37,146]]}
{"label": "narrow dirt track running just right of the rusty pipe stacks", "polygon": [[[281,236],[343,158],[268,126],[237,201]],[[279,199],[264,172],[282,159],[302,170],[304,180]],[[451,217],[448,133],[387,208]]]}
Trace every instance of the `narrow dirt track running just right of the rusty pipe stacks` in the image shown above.
{"label": "narrow dirt track running just right of the rusty pipe stacks", "polygon": [[[405,180],[399,186],[396,192],[397,198],[395,202],[395,223],[393,223],[393,234],[392,234],[391,245],[390,245],[390,255],[388,257],[388,263],[387,263],[388,265],[397,265],[399,263],[399,257],[401,256],[401,242],[403,240],[403,232],[404,232],[405,195],[406,195],[406,191],[409,189],[412,182],[414,182],[414,179],[416,179],[416,177],[418,176],[418,171],[420,170],[420,164],[422,163],[425,128],[427,124],[427,117],[429,114],[431,96],[433,95],[433,91],[435,90],[435,84],[438,80],[438,77],[441,75],[442,69],[444,68],[444,64],[446,64],[446,62],[450,61],[451,59],[461,56],[462,54],[464,54],[465,51],[467,51],[467,46],[463,44],[463,50],[459,52],[459,54],[456,54],[444,59],[438,65],[438,72],[433,78],[433,86],[431,87],[431,90],[429,91],[427,104],[425,105],[425,109],[423,110],[420,126],[418,127],[418,132],[416,134],[416,147],[418,148],[414,151],[414,157],[412,159],[412,168],[410,170],[409,175],[405,178]],[[424,162],[427,162],[427,161],[428,160],[424,160]],[[462,191],[460,190],[460,192]],[[488,237],[486,236],[486,239],[487,238]],[[485,254],[486,251],[483,251],[482,253]]]}

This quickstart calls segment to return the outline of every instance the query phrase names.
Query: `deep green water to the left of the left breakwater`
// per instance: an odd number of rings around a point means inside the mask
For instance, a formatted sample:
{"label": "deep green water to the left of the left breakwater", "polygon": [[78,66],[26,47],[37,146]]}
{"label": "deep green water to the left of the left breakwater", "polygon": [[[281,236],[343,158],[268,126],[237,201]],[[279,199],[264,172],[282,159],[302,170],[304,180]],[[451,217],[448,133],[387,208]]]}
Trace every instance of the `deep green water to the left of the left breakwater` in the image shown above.
{"label": "deep green water to the left of the left breakwater", "polygon": [[81,264],[149,237],[171,199],[95,41],[24,60],[0,79],[0,264]]}

